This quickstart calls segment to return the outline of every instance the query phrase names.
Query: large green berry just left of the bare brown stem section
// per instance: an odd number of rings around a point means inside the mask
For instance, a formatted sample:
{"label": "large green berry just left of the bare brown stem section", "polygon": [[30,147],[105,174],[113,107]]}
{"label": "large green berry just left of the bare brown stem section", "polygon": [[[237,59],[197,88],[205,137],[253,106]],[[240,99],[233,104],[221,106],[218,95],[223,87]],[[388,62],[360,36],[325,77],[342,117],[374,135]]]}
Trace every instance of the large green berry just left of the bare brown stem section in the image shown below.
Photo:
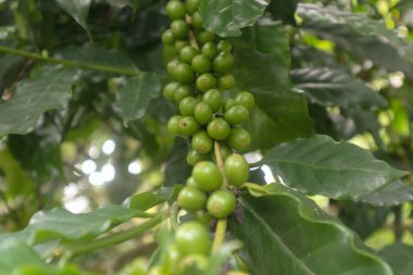
{"label": "large green berry just left of the bare brown stem section", "polygon": [[197,163],[192,170],[192,177],[199,188],[203,191],[220,189],[223,184],[223,176],[215,163],[202,161]]}

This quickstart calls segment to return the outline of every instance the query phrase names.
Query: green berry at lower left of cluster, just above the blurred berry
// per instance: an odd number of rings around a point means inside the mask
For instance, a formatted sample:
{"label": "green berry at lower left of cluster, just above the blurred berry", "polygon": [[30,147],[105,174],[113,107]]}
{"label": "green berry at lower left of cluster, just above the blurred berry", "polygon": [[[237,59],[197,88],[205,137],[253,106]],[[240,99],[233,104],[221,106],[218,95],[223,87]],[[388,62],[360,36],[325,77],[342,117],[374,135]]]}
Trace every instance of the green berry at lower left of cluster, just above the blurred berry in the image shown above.
{"label": "green berry at lower left of cluster, just above the blurred berry", "polygon": [[186,186],[179,191],[177,202],[184,210],[198,211],[205,205],[206,195],[195,187]]}

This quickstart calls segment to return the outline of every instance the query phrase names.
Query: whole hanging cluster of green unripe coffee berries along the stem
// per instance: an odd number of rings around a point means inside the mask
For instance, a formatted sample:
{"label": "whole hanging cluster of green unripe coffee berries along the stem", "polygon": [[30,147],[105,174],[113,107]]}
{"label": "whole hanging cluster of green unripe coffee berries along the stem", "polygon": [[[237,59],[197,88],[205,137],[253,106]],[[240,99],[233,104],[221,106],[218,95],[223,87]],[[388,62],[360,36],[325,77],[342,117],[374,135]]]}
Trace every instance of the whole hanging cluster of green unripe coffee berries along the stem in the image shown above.
{"label": "whole hanging cluster of green unripe coffee berries along the stem", "polygon": [[[166,70],[171,82],[163,96],[173,101],[179,114],[172,116],[167,129],[190,141],[187,154],[192,165],[191,176],[179,191],[179,209],[192,220],[182,223],[170,249],[173,260],[171,274],[195,264],[208,268],[212,238],[212,218],[226,218],[237,204],[234,190],[248,180],[249,165],[241,154],[251,137],[240,124],[246,122],[254,105],[250,92],[224,98],[233,90],[235,78],[233,46],[203,28],[198,12],[202,0],[170,0],[166,13],[171,27],[162,35]],[[170,253],[171,254],[171,253]],[[182,267],[184,266],[184,267]]]}

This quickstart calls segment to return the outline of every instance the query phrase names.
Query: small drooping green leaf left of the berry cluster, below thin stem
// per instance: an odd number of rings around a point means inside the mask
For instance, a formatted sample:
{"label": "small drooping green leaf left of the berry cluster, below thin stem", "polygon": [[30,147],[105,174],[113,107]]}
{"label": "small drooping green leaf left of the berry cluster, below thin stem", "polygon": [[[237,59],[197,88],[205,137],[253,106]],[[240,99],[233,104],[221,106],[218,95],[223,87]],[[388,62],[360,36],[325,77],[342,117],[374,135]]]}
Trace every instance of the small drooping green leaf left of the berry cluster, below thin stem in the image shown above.
{"label": "small drooping green leaf left of the berry cluster, below thin stem", "polygon": [[125,124],[141,118],[151,99],[158,98],[160,92],[161,83],[154,74],[142,73],[127,78],[116,95],[115,110]]}

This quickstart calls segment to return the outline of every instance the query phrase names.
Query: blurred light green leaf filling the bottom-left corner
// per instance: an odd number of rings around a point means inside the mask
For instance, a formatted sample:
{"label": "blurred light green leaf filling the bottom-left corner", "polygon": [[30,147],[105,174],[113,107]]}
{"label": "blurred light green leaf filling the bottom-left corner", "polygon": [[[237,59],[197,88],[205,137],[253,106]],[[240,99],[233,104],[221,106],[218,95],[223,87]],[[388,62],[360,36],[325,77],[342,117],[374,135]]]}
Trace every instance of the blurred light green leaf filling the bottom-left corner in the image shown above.
{"label": "blurred light green leaf filling the bottom-left corner", "polygon": [[74,267],[60,270],[46,264],[29,247],[16,241],[0,245],[0,275],[82,275]]}

